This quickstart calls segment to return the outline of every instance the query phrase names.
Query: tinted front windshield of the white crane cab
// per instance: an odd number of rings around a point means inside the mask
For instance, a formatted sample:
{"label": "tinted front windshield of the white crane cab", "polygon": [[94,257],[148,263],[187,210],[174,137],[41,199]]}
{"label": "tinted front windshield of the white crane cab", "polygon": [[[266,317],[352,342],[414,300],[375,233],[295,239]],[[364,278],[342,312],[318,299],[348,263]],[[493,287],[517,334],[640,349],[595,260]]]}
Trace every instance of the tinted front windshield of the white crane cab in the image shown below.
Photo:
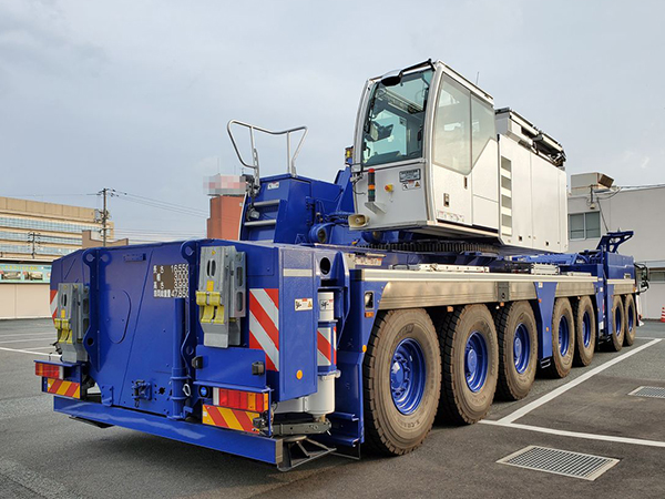
{"label": "tinted front windshield of the white crane cab", "polygon": [[432,70],[406,74],[392,86],[375,83],[362,128],[367,166],[422,157],[424,111]]}

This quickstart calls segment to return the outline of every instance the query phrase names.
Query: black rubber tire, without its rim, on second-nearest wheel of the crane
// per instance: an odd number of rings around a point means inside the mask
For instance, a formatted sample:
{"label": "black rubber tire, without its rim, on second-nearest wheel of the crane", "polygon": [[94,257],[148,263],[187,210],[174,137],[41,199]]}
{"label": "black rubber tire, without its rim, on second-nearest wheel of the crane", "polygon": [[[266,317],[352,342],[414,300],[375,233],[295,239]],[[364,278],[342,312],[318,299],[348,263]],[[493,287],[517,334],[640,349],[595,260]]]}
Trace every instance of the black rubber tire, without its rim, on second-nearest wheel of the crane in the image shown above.
{"label": "black rubber tire, without its rim, on second-nearest wheel of the crane", "polygon": [[[482,419],[492,405],[499,377],[499,343],[492,314],[484,305],[456,308],[438,324],[443,384],[437,418],[457,424]],[[473,393],[464,376],[464,352],[471,333],[479,332],[488,346],[488,374],[483,387]]]}

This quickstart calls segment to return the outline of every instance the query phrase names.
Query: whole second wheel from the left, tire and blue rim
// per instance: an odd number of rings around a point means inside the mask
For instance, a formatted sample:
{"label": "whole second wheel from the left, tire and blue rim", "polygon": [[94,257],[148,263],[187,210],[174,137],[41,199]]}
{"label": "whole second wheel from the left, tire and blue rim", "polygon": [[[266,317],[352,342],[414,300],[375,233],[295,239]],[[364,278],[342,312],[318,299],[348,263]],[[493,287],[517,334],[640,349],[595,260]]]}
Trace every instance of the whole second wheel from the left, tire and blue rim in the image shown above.
{"label": "whole second wheel from the left, tire and blue rim", "polygon": [[439,416],[471,424],[482,419],[494,398],[499,345],[490,310],[467,305],[438,324],[443,384]]}

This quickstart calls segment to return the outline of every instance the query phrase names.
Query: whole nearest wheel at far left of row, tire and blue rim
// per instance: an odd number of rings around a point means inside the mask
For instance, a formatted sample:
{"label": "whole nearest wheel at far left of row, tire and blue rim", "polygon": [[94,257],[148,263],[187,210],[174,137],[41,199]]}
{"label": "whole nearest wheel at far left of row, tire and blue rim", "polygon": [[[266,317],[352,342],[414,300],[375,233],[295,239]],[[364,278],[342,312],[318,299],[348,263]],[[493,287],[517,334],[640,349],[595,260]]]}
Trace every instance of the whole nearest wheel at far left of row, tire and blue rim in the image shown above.
{"label": "whole nearest wheel at far left of row, tire and blue rim", "polygon": [[434,326],[422,308],[378,317],[362,363],[365,442],[388,455],[410,452],[430,431],[441,389]]}

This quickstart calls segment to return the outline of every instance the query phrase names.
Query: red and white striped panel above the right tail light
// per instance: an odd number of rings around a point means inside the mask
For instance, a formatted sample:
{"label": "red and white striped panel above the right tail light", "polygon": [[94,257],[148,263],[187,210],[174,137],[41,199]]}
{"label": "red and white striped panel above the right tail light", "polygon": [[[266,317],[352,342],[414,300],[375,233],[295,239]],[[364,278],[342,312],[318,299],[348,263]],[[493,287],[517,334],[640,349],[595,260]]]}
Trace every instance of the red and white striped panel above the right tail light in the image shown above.
{"label": "red and white striped panel above the right tail light", "polygon": [[249,289],[249,348],[266,353],[266,368],[279,370],[279,289]]}

